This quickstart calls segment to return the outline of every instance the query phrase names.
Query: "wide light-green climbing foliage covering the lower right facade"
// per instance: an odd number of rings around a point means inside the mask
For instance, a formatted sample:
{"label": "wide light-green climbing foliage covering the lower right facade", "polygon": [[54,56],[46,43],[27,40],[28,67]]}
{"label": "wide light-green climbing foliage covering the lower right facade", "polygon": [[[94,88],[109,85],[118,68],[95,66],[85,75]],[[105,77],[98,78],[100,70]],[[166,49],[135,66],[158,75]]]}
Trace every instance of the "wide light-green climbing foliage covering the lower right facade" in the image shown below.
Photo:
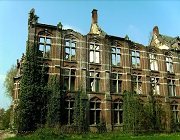
{"label": "wide light-green climbing foliage covering the lower right facade", "polygon": [[154,95],[145,105],[139,95],[126,92],[123,99],[123,129],[133,134],[165,131],[166,114]]}

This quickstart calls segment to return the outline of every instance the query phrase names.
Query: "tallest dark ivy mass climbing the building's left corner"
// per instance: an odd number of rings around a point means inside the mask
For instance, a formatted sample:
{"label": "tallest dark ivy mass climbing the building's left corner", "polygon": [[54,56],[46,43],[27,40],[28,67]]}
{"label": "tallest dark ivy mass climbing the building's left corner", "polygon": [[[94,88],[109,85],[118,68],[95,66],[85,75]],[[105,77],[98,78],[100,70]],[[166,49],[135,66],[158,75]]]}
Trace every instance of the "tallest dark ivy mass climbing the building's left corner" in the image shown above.
{"label": "tallest dark ivy mass climbing the building's left corner", "polygon": [[38,57],[38,44],[35,36],[34,43],[27,43],[23,75],[21,78],[18,105],[18,132],[34,131],[38,124],[44,123],[45,77],[42,60]]}

